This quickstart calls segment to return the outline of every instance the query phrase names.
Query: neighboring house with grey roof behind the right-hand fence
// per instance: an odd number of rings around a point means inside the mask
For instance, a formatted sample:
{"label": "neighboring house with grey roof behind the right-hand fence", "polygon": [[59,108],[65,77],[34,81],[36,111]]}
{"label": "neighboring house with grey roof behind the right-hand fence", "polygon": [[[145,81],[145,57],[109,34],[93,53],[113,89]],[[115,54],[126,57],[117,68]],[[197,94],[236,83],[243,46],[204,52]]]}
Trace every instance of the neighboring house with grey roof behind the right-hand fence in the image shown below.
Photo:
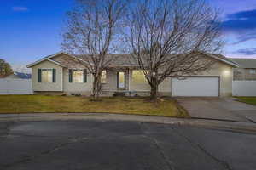
{"label": "neighboring house with grey roof behind the right-hand fence", "polygon": [[234,80],[256,80],[256,59],[231,59],[239,67],[234,69]]}

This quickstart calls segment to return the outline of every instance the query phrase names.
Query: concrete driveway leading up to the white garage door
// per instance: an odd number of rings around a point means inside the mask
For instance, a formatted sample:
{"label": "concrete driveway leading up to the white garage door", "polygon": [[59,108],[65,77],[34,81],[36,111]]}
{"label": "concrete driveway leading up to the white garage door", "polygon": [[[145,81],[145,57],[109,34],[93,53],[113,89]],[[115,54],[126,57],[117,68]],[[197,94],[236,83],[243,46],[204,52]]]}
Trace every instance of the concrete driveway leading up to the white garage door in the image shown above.
{"label": "concrete driveway leading up to the white garage door", "polygon": [[233,98],[177,98],[192,118],[256,122],[256,106]]}

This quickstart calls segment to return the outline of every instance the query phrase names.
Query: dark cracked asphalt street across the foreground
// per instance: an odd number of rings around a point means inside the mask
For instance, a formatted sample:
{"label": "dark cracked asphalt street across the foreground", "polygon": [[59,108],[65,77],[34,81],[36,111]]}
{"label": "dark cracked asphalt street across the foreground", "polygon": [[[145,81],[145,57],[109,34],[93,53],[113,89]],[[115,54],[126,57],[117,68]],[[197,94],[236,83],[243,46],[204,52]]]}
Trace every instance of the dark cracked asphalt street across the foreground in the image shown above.
{"label": "dark cracked asphalt street across the foreground", "polygon": [[256,169],[256,133],[141,122],[0,122],[2,170]]}

